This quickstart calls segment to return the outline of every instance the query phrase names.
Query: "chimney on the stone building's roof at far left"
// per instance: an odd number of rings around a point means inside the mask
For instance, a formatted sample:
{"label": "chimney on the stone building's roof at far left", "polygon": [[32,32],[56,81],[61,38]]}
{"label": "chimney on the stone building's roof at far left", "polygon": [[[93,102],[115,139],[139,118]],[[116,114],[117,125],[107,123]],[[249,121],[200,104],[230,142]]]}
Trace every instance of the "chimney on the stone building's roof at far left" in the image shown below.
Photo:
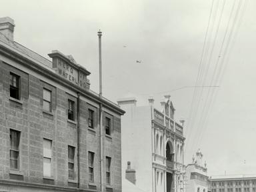
{"label": "chimney on the stone building's roof at far left", "polygon": [[10,17],[0,18],[0,33],[3,33],[9,41],[13,41],[14,21]]}

